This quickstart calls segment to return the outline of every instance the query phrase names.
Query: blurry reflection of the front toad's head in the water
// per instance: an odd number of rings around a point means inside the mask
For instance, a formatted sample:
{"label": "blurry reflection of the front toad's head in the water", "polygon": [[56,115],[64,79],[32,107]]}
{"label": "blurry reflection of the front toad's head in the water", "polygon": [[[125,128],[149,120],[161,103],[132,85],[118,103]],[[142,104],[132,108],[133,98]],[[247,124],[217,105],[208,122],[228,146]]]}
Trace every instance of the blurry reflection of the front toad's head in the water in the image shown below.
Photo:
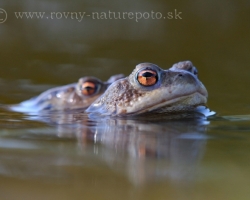
{"label": "blurry reflection of the front toad's head in the water", "polygon": [[198,121],[106,119],[92,129],[91,139],[105,147],[95,149],[98,156],[136,185],[161,179],[185,183],[195,180],[206,144],[206,125]]}

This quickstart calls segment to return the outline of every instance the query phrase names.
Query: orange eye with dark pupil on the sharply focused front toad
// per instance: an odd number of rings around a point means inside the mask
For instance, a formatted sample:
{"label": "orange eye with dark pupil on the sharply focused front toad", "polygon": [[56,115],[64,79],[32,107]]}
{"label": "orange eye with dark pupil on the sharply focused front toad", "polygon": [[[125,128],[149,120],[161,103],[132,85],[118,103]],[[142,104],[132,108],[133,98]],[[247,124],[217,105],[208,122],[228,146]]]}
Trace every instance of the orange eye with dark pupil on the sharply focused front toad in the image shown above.
{"label": "orange eye with dark pupil on the sharply focused front toad", "polygon": [[152,86],[157,80],[157,72],[150,69],[142,70],[137,75],[137,81],[143,86]]}

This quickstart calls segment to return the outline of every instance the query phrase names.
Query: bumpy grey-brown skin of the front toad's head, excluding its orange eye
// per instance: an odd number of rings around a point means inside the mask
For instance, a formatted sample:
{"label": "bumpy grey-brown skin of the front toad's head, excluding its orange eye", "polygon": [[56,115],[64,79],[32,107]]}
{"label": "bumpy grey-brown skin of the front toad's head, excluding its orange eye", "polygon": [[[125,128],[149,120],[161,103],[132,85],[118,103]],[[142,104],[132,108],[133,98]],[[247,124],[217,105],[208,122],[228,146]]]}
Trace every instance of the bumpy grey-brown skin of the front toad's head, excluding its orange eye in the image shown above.
{"label": "bumpy grey-brown skin of the front toad's head, excluding its orange eye", "polygon": [[[144,69],[157,72],[158,81],[153,86],[143,86],[137,81],[138,72]],[[193,111],[206,104],[207,96],[207,90],[190,61],[179,62],[169,70],[141,63],[128,77],[113,83],[86,112],[129,116]]]}

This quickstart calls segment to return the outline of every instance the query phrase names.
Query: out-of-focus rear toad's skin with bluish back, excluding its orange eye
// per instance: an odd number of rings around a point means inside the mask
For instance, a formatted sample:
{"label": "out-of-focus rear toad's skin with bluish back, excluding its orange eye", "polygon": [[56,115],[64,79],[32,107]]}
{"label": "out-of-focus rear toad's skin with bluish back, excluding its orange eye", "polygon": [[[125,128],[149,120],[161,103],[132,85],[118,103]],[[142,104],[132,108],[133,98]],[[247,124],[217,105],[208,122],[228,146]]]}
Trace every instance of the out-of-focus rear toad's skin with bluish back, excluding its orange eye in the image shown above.
{"label": "out-of-focus rear toad's skin with bluish back, excluding its orange eye", "polygon": [[[8,108],[17,112],[86,109],[105,92],[112,82],[123,77],[123,74],[114,75],[107,82],[102,82],[95,77],[83,77],[79,79],[78,83],[49,89],[37,97],[23,101],[17,105],[11,105]],[[97,86],[94,94],[88,96],[82,94],[81,85],[86,81],[93,82]]]}

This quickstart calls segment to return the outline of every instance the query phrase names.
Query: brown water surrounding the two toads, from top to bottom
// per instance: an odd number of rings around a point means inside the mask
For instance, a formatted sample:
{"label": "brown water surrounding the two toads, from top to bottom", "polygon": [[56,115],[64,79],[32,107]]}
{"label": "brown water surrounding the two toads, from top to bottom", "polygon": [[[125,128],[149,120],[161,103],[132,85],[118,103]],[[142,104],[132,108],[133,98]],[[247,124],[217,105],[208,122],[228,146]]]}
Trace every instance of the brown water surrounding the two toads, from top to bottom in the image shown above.
{"label": "brown water surrounding the two toads, from top to bottom", "polygon": [[[1,110],[1,200],[250,198],[249,1],[0,0],[0,8],[8,13],[0,23],[1,104],[84,75],[128,75],[140,62],[191,60],[218,113],[148,121]],[[182,19],[47,19],[109,10],[166,17],[175,9]],[[46,18],[17,19],[24,11]]]}

